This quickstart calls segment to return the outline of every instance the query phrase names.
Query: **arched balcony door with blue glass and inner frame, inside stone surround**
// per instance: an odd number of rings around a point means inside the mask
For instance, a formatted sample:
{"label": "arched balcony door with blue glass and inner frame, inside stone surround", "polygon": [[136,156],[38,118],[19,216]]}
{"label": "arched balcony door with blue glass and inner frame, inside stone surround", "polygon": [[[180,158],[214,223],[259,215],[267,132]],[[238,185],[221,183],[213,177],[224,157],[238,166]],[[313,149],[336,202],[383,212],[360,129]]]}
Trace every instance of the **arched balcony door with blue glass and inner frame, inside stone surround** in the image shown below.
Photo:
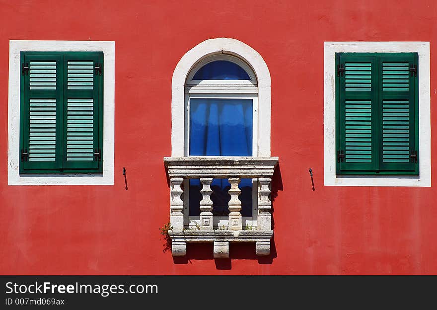
{"label": "arched balcony door with blue glass and inner frame, inside stone surround", "polygon": [[[226,54],[206,57],[190,71],[185,83],[187,156],[257,156],[258,86],[256,76],[243,60]],[[185,195],[191,225],[200,224],[202,184],[186,180]],[[228,226],[231,184],[227,178],[211,183],[214,226]],[[242,178],[243,227],[256,226],[257,181]],[[255,196],[254,196],[255,194]],[[254,216],[255,215],[255,216]]]}

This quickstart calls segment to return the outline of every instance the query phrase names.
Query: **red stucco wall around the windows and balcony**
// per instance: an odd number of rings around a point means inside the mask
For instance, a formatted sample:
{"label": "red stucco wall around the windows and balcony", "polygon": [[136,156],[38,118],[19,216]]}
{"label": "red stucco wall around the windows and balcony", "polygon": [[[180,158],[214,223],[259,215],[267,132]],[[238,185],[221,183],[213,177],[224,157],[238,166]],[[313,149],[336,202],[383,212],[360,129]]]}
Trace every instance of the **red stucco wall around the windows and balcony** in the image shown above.
{"label": "red stucco wall around the windows and balcony", "polygon": [[[437,3],[331,1],[0,1],[1,274],[436,274],[437,191],[323,186],[323,42],[430,41],[436,131]],[[215,37],[257,50],[272,77],[275,242],[163,253],[171,78]],[[9,39],[115,41],[114,186],[8,186]],[[433,136],[433,135],[432,135]],[[432,179],[436,179],[432,139]],[[129,190],[125,190],[123,166]],[[311,190],[308,168],[314,171]]]}

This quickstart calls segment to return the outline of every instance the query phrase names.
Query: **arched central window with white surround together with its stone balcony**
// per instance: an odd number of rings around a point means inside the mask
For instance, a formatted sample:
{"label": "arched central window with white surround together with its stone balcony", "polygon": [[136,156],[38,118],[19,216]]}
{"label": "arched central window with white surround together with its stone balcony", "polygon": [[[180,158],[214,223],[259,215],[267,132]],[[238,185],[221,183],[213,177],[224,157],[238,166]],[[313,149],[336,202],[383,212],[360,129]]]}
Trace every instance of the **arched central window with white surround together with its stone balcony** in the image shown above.
{"label": "arched central window with white surround together with its stone balcony", "polygon": [[170,181],[172,255],[186,243],[254,242],[269,255],[270,200],[278,157],[270,156],[270,74],[250,46],[206,40],[179,61],[172,78]]}

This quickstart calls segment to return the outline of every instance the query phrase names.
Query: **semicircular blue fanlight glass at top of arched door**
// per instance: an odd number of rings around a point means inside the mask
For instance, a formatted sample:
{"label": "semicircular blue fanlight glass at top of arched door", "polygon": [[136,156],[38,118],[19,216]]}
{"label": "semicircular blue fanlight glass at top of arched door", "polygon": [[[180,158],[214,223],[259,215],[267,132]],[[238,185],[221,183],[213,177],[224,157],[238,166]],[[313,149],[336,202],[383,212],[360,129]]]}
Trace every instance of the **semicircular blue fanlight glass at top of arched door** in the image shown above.
{"label": "semicircular blue fanlight glass at top of arched door", "polygon": [[193,79],[250,79],[243,68],[225,60],[216,60],[200,68]]}

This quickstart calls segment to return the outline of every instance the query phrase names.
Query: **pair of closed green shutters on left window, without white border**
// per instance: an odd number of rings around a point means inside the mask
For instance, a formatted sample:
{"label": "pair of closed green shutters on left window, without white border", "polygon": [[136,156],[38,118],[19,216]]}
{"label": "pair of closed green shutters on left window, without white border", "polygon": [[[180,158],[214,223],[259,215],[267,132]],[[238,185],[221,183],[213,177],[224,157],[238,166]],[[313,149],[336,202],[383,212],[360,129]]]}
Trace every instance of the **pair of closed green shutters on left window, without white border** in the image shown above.
{"label": "pair of closed green shutters on left window, without white border", "polygon": [[20,172],[102,172],[103,53],[21,53]]}

